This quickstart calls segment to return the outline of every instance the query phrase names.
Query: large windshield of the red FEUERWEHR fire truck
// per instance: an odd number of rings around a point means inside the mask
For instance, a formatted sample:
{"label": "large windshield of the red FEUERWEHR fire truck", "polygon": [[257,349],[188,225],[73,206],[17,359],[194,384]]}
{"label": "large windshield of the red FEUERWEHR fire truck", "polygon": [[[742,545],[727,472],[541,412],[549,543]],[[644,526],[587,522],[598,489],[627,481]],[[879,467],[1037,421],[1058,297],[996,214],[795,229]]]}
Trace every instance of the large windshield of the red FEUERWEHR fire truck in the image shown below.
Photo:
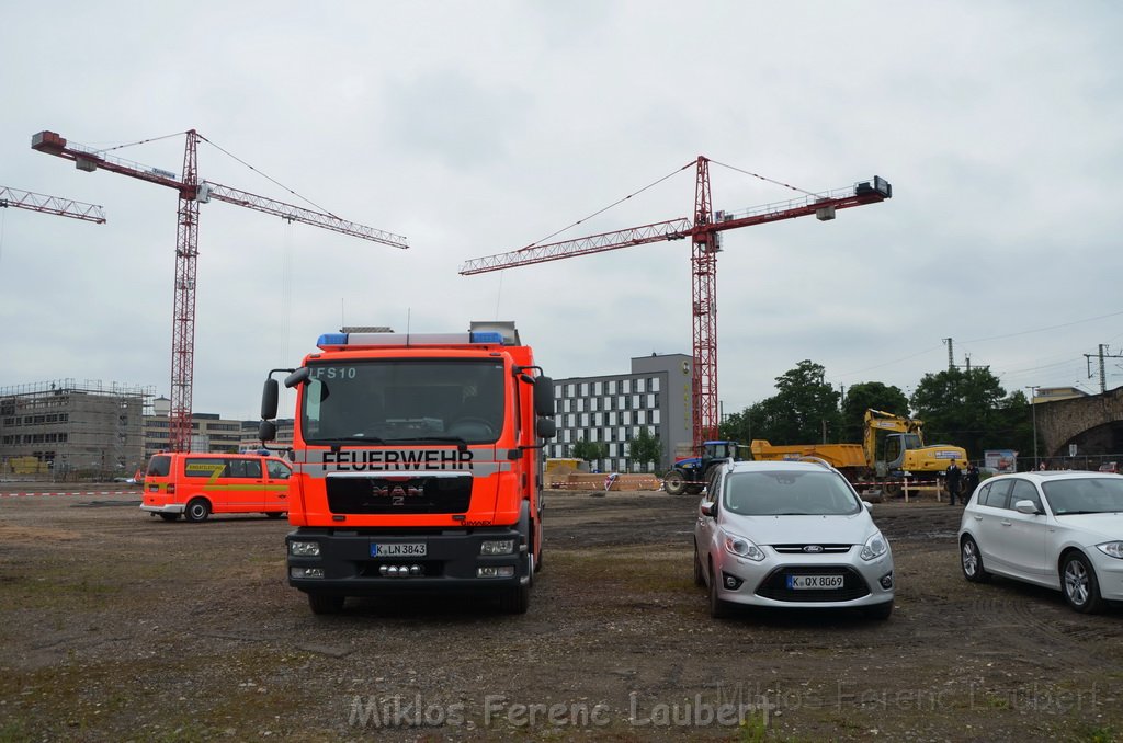
{"label": "large windshield of the red FEUERWEHR fire truck", "polygon": [[300,421],[309,443],[494,443],[502,433],[502,363],[323,360],[308,369]]}

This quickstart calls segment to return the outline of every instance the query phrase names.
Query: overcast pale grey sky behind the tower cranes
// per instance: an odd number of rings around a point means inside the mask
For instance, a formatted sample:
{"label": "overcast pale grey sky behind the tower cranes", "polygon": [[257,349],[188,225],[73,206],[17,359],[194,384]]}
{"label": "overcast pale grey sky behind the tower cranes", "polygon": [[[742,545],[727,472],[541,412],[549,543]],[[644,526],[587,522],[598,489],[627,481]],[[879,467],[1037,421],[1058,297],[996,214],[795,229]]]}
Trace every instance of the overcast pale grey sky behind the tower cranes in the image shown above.
{"label": "overcast pale grey sky behind the tower cranes", "polygon": [[[0,209],[0,386],[171,396],[176,195],[31,136],[194,128],[199,174],[409,238],[398,250],[201,207],[194,409],[256,418],[270,368],[340,324],[517,321],[554,377],[691,352],[690,246],[460,276],[696,157],[737,211],[878,174],[882,204],[727,231],[719,397],[827,379],[906,393],[955,361],[1007,392],[1123,350],[1123,6],[1115,2],[19,3],[0,22],[0,185],[107,224]],[[181,135],[115,150],[179,173]],[[692,217],[687,168],[555,239]],[[1121,359],[1107,387],[1123,384]],[[1096,369],[1093,369],[1096,373]]]}

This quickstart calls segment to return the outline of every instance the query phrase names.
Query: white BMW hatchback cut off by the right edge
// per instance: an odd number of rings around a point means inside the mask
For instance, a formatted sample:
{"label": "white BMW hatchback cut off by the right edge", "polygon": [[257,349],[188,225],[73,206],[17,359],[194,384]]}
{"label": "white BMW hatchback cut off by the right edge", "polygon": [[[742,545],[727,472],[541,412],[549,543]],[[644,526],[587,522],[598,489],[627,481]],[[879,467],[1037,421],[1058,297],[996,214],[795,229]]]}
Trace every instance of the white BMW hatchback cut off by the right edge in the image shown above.
{"label": "white BMW hatchback cut off by the right edge", "polygon": [[1123,600],[1123,475],[1020,473],[976,488],[959,525],[964,577],[1057,588],[1077,612]]}

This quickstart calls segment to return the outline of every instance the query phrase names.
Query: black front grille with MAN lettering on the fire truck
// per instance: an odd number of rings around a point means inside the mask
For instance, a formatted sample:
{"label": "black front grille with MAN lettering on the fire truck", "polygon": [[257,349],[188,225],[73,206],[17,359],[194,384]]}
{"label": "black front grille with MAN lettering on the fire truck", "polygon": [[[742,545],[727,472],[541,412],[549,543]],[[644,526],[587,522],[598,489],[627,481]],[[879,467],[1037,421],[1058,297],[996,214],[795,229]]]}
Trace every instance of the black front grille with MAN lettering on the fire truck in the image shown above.
{"label": "black front grille with MAN lettering on the fire truck", "polygon": [[465,513],[471,477],[329,477],[331,513]]}

